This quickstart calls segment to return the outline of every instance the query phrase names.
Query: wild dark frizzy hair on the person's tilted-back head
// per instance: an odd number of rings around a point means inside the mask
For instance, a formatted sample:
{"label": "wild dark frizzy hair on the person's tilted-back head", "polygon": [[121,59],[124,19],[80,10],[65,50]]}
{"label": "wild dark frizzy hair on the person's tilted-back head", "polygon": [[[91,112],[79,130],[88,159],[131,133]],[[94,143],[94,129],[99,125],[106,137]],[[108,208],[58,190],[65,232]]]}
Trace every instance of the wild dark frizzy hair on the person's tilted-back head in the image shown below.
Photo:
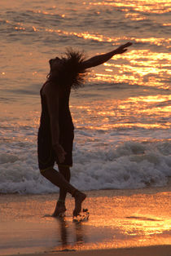
{"label": "wild dark frizzy hair on the person's tilted-back head", "polygon": [[82,63],[85,60],[85,54],[80,51],[73,51],[67,48],[66,57],[61,57],[62,64],[57,75],[49,73],[47,78],[51,82],[58,83],[59,86],[70,86],[77,89],[83,86],[87,71]]}

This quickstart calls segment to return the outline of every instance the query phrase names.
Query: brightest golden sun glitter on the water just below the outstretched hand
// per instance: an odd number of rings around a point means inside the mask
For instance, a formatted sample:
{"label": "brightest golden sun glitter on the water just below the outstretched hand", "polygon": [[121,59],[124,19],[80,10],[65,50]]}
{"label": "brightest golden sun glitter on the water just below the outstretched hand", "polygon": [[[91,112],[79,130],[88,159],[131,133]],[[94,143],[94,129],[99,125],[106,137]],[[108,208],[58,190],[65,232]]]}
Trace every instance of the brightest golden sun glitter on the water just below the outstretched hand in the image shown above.
{"label": "brightest golden sun glitter on the water just below the outstretched hand", "polygon": [[[123,64],[121,60],[124,60],[125,63]],[[169,53],[133,50],[126,55],[113,56],[110,62],[103,64],[105,73],[94,72],[94,76],[90,77],[90,80],[125,82],[169,89],[170,62],[171,55]]]}

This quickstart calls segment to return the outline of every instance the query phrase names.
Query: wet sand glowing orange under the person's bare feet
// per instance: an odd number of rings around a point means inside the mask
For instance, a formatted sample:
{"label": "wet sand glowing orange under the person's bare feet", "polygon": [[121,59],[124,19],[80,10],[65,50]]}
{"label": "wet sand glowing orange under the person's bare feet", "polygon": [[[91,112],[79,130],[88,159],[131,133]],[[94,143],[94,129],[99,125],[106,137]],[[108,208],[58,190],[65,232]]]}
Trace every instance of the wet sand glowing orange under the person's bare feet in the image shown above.
{"label": "wet sand glowing orange under the person's bare feet", "polygon": [[87,192],[87,222],[50,217],[58,193],[0,195],[0,255],[171,255],[171,182],[164,188]]}

